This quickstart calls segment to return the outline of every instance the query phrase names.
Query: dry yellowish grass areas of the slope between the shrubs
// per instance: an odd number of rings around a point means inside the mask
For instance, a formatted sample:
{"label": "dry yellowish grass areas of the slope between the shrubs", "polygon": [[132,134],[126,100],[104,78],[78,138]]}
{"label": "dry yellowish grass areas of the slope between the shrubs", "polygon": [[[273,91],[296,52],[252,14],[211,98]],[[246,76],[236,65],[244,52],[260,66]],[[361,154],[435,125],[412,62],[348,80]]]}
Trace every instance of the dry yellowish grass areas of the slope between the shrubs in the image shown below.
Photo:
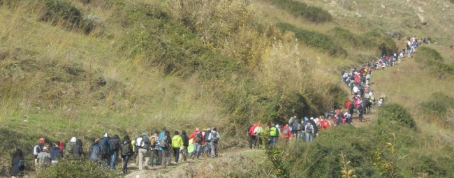
{"label": "dry yellowish grass areas of the slope between the shrubs", "polygon": [[[172,119],[173,123],[182,123],[184,128],[191,128],[198,118],[210,118],[206,123],[210,124],[219,122],[217,118],[225,117],[223,112],[225,108],[219,108],[222,106],[219,105],[219,101],[213,99],[215,97],[212,92],[200,90],[200,85],[203,83],[200,83],[197,77],[182,80],[173,75],[163,75],[159,68],[143,67],[140,64],[142,59],[131,61],[124,54],[119,53],[119,46],[116,43],[118,40],[122,40],[120,36],[125,34],[122,30],[115,30],[124,27],[115,22],[114,10],[84,6],[79,1],[73,2],[79,8],[89,9],[90,12],[105,19],[103,30],[108,31],[106,34],[110,34],[110,37],[85,36],[39,22],[33,12],[26,12],[27,8],[11,11],[3,7],[0,11],[0,24],[2,24],[0,50],[7,53],[10,64],[15,64],[14,67],[20,68],[10,73],[17,80],[13,80],[15,85],[8,93],[14,96],[2,97],[1,124],[4,131],[17,131],[28,138],[6,145],[20,144],[21,147],[26,147],[33,144],[36,140],[34,138],[38,135],[46,135],[51,140],[80,135],[80,137],[87,137],[85,138],[87,147],[88,137],[96,137],[105,131],[119,133],[119,135],[124,133],[136,135],[147,128],[155,128],[156,123],[160,123],[159,126],[172,128],[173,124],[165,122],[168,119]],[[297,27],[323,33],[327,33],[333,27],[341,26],[358,34],[369,29],[381,29],[386,32],[388,30],[383,27],[388,27],[388,29],[395,29],[404,35],[432,36],[434,41],[442,45],[432,46],[439,49],[445,61],[448,63],[454,61],[452,50],[446,47],[450,39],[444,38],[453,36],[453,34],[449,34],[453,32],[448,30],[452,19],[439,20],[441,15],[449,15],[452,10],[446,8],[446,11],[441,11],[441,5],[427,3],[424,7],[424,14],[430,26],[419,25],[415,29],[413,21],[417,21],[417,17],[414,17],[413,13],[395,10],[394,15],[387,15],[380,4],[373,3],[374,1],[361,1],[356,5],[353,4],[353,1],[344,1],[346,4],[337,3],[336,6],[325,4],[324,1],[308,1],[316,6],[332,10],[335,21],[325,24],[306,22],[300,17],[290,15],[284,10],[263,3],[263,1],[253,2],[260,11],[258,16],[261,17],[259,21],[262,24],[288,22]],[[369,6],[369,2],[372,5]],[[407,4],[390,1],[390,4],[386,4],[386,6],[407,7]],[[411,9],[415,10],[417,6],[423,5],[413,4]],[[345,10],[345,8],[352,10]],[[357,8],[361,10],[355,11]],[[372,13],[365,13],[371,11]],[[398,19],[402,19],[403,22],[393,21],[395,17],[399,17]],[[375,51],[353,49],[353,47],[347,50],[353,57],[359,54],[365,56],[376,54]],[[340,68],[358,64],[358,59],[333,58],[302,45],[298,47],[298,52],[307,58],[305,61],[314,68],[313,72],[316,73],[312,75],[318,76],[318,73],[323,73],[325,74],[323,78],[331,82],[337,80]],[[35,67],[23,72],[22,68],[27,68],[25,67],[27,63],[19,59],[36,59],[29,65]],[[411,108],[413,113],[416,112],[416,104],[426,101],[432,91],[442,91],[453,96],[449,92],[453,87],[452,82],[449,82],[452,81],[452,77],[439,78],[427,74],[427,71],[418,71],[417,64],[411,60],[404,61],[404,64],[395,68],[390,68],[386,73],[379,71],[374,73],[374,80],[380,82],[380,85],[376,86],[376,90],[380,94],[386,94],[388,101]],[[7,64],[3,63],[3,65]],[[78,68],[82,74],[74,77],[68,75],[66,71],[52,73],[54,72],[51,70],[52,68],[59,68],[56,66]],[[62,74],[69,77],[69,81],[76,82],[65,82],[68,81],[65,79],[52,80],[52,76]],[[27,80],[20,80],[21,77]],[[91,89],[93,86],[98,87],[96,79],[100,77],[107,81],[106,87]],[[23,84],[24,82],[27,84]],[[421,82],[425,84],[420,85]],[[122,87],[118,87],[118,85]],[[390,91],[393,87],[395,89]],[[63,104],[49,104],[45,101],[46,99],[52,100],[55,93],[63,94],[60,96]],[[94,99],[84,102],[83,99],[78,99],[76,104],[71,102],[76,97],[96,98],[99,95],[102,97],[98,101]],[[416,117],[416,119],[423,133],[453,135],[452,131],[448,129],[432,129],[439,128],[439,126],[423,124],[423,118]],[[28,122],[24,122],[24,120]],[[15,134],[9,136],[15,137]],[[3,157],[2,160],[3,163],[7,162],[6,157]]]}

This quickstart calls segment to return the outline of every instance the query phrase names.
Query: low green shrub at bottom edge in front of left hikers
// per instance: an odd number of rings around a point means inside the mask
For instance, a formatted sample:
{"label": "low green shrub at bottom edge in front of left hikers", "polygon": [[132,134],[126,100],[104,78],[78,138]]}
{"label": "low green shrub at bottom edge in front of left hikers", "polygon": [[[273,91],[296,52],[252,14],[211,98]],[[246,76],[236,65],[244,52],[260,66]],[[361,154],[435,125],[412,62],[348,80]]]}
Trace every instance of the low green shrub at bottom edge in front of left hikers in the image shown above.
{"label": "low green shrub at bottom edge in front of left hikers", "polygon": [[52,165],[38,172],[36,177],[115,177],[116,172],[104,170],[99,163],[73,158],[61,159],[57,165]]}

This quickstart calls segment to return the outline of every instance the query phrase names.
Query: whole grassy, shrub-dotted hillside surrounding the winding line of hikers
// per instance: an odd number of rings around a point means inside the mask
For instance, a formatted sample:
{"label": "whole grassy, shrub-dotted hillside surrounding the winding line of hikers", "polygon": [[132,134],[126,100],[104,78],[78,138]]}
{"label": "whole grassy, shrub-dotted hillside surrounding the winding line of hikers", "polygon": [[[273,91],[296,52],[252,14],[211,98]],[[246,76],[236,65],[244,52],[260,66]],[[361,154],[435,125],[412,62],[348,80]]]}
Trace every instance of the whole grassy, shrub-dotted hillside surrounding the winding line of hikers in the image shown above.
{"label": "whole grassy, shrub-dotted hillside surrounding the winding line of hikers", "polygon": [[[235,140],[252,123],[281,125],[293,114],[316,117],[342,107],[350,96],[340,71],[400,50],[407,37],[430,36],[432,43],[413,58],[373,72],[372,88],[389,105],[374,109],[365,124],[332,128],[312,144],[279,147],[280,165],[256,164],[265,170],[295,165],[284,169],[291,177],[295,170],[340,177],[339,149],[349,148],[343,154],[359,177],[386,177],[390,160],[402,177],[452,177],[452,6],[410,0],[0,0],[0,133],[6,138],[0,150],[8,153],[0,156],[0,174],[8,174],[13,148],[24,150],[32,165],[29,150],[41,135],[48,143],[76,136],[88,151],[105,132],[122,138],[215,126],[228,140],[223,150],[232,151],[244,147],[246,140]],[[397,150],[393,156],[388,142]],[[31,167],[27,172],[36,174]],[[258,169],[240,172],[228,174],[266,177]]]}

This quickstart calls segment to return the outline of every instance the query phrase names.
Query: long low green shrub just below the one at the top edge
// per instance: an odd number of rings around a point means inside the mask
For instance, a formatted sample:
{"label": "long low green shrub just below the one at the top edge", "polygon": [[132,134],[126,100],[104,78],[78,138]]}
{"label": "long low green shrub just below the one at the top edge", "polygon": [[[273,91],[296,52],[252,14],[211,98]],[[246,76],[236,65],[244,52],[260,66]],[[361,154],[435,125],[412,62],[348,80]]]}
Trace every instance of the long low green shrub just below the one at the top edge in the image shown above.
{"label": "long low green shrub just below the one at the top edge", "polygon": [[295,38],[302,40],[306,45],[314,47],[321,52],[328,53],[332,56],[346,56],[346,50],[335,43],[331,36],[322,34],[318,31],[309,31],[293,26],[287,23],[278,23],[276,27],[283,31],[293,31]]}

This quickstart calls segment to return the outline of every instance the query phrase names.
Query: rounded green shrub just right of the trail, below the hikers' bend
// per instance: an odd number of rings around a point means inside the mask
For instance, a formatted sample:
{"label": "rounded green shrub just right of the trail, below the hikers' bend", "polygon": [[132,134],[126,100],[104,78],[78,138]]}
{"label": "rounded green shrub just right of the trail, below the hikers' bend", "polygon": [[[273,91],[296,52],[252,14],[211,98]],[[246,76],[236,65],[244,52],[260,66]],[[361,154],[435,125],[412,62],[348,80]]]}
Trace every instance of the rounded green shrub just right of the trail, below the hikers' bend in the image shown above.
{"label": "rounded green shrub just right of the trail, below the hikers' bend", "polygon": [[379,107],[378,124],[391,122],[392,124],[416,129],[416,124],[409,110],[396,103],[386,103]]}

